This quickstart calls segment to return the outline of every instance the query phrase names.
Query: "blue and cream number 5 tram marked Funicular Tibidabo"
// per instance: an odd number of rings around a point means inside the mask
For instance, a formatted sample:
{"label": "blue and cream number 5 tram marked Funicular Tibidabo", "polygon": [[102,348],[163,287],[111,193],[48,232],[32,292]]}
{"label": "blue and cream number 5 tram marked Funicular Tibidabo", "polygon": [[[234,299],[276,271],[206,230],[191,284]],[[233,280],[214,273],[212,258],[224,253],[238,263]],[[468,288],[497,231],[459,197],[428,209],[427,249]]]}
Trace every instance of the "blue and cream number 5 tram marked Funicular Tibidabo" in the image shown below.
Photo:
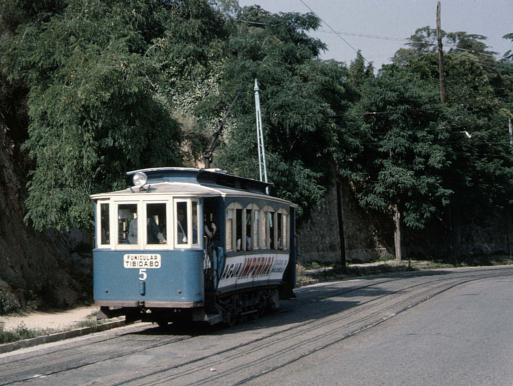
{"label": "blue and cream number 5 tram marked Funicular Tibidabo", "polygon": [[94,194],[98,319],[230,325],[294,297],[291,202],[219,169],[127,173],[134,186]]}

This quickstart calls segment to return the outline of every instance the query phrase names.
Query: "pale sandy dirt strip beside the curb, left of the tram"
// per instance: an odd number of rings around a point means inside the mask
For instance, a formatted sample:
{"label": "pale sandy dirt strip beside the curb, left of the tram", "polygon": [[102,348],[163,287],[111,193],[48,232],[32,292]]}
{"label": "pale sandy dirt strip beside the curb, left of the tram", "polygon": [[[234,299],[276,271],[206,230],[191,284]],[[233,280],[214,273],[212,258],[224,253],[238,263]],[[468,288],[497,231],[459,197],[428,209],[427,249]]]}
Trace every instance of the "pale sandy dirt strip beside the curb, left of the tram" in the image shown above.
{"label": "pale sandy dirt strip beside the curb, left of the tram", "polygon": [[0,323],[4,323],[6,331],[16,329],[21,323],[30,330],[52,329],[62,331],[88,319],[95,319],[92,316],[100,307],[77,307],[69,311],[61,312],[40,312],[36,311],[26,315],[0,316]]}

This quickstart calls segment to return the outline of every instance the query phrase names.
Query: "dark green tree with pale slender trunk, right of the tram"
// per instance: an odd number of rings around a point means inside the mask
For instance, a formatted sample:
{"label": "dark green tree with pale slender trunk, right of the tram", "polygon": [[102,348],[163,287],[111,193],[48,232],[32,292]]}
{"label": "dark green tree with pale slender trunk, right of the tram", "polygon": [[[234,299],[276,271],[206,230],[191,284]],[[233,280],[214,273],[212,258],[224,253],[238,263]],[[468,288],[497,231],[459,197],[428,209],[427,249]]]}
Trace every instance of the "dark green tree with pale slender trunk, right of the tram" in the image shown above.
{"label": "dark green tree with pale slender trunk, right of the tram", "polygon": [[363,207],[389,213],[394,223],[396,258],[401,260],[401,224],[422,229],[451,191],[442,185],[447,166],[439,145],[446,134],[438,121],[436,90],[408,67],[384,66],[365,83],[351,111],[351,124],[366,132],[365,146],[346,169]]}

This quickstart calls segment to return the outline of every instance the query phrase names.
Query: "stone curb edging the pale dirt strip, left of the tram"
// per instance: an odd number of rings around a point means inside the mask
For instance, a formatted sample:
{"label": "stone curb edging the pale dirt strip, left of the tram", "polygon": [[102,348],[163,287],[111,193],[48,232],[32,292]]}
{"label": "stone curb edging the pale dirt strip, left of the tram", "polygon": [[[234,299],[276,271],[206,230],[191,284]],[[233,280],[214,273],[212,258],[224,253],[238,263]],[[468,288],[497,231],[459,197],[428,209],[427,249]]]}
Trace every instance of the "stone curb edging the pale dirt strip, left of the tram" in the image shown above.
{"label": "stone curb edging the pale dirt strip, left of the tram", "polygon": [[64,332],[57,332],[55,334],[37,336],[35,338],[18,340],[12,343],[0,344],[0,354],[8,353],[19,349],[24,349],[27,347],[37,346],[38,344],[57,342],[59,340],[76,338],[78,336],[93,334],[95,332],[115,329],[117,327],[123,327],[125,326],[125,324],[125,320],[118,320],[109,323],[98,324],[97,326],[84,327],[81,329],[75,329]]}

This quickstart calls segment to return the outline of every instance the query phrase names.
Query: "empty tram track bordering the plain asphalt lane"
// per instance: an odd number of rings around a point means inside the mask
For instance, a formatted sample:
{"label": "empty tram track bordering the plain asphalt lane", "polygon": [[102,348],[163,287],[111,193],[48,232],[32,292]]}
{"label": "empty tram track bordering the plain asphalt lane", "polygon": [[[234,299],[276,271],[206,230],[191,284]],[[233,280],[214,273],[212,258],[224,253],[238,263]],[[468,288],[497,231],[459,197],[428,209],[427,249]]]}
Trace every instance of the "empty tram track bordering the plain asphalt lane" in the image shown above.
{"label": "empty tram track bordering the plain asphalt lane", "polygon": [[[293,361],[304,358],[305,356],[327,348],[332,344],[338,343],[361,331],[365,331],[376,326],[377,324],[415,307],[417,304],[420,304],[421,302],[453,287],[462,285],[466,282],[489,278],[492,276],[504,276],[502,273],[493,275],[491,271],[492,270],[486,270],[485,273],[474,271],[472,274],[464,277],[437,278],[427,283],[422,282],[412,286],[401,287],[392,294],[389,293],[377,298],[369,299],[360,303],[358,307],[351,307],[348,309],[348,312],[344,312],[342,315],[339,315],[340,312],[335,312],[331,315],[325,315],[319,319],[308,320],[296,326],[266,335],[260,339],[247,342],[242,346],[233,347],[228,350],[223,350],[220,353],[213,353],[202,358],[197,358],[196,360],[189,361],[188,363],[177,364],[172,368],[162,369],[142,377],[128,379],[118,384],[137,383],[140,385],[146,385],[165,383],[169,381],[177,382],[179,384],[206,384],[211,382],[226,383],[227,378],[230,379],[231,377],[244,372],[252,372],[253,374],[248,377],[233,382],[233,384],[242,384],[258,378],[261,375],[267,374],[270,371],[283,368],[285,365],[292,363]],[[512,274],[513,273],[509,273],[508,275]],[[396,280],[402,280],[402,278]],[[364,288],[374,287],[396,280],[380,281],[368,286],[354,288],[349,291],[342,291],[339,294],[347,294],[349,292],[359,291]],[[405,291],[413,291],[413,293],[408,295],[405,299],[404,295],[401,295]],[[372,309],[378,309],[379,311],[372,312]],[[377,317],[377,315],[379,317]],[[354,329],[354,326],[358,327]],[[325,330],[325,332],[315,333],[315,331],[323,330]],[[311,337],[308,337],[310,335]],[[261,359],[262,355],[260,355],[259,352],[265,351],[270,351],[273,354],[265,355],[265,360],[263,361]],[[249,357],[253,357],[255,359],[243,360],[241,362],[241,358]],[[234,362],[240,363],[238,365],[233,365]],[[267,363],[268,367],[265,365],[263,366],[263,362]],[[224,363],[231,363],[230,368],[225,371],[219,371],[218,368],[222,367]],[[269,365],[271,363],[274,365]],[[208,376],[203,379],[193,377],[194,375],[204,373],[207,368],[216,369],[216,371],[214,374],[208,374]],[[261,368],[261,371],[254,373],[254,370],[257,368]],[[166,374],[167,372],[171,372],[171,374]],[[188,383],[186,380],[188,378],[194,378],[194,380]],[[145,382],[145,379],[148,381]]]}

